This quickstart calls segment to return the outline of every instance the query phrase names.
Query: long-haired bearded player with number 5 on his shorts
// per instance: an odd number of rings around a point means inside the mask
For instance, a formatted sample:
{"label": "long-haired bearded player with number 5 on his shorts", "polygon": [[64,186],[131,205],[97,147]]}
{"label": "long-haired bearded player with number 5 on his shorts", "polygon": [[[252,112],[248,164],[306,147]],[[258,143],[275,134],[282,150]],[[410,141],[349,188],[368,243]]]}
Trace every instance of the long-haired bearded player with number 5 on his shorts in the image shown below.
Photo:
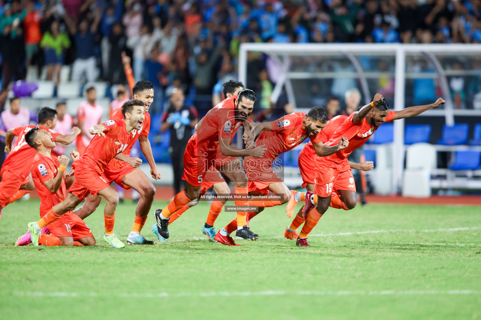
{"label": "long-haired bearded player with number 5 on his shorts", "polygon": [[[247,177],[242,168],[241,160],[237,156],[260,158],[266,151],[261,146],[253,147],[253,143],[245,150],[230,146],[230,142],[237,132],[241,123],[246,130],[247,139],[253,139],[250,133],[249,114],[251,114],[256,99],[255,93],[250,89],[242,90],[239,95],[231,96],[207,112],[203,118],[199,130],[194,133],[187,143],[184,154],[184,175],[187,181],[186,190],[180,191],[167,207],[155,211],[157,230],[159,235],[168,238],[168,223],[172,213],[190,201],[197,199],[201,192],[203,179],[207,169],[214,166],[224,173],[235,185],[236,205],[245,205],[242,200],[246,196]],[[247,141],[247,140],[246,140]],[[249,142],[251,143],[251,142]],[[237,212],[238,236],[252,237],[253,232],[246,227],[246,212]]]}

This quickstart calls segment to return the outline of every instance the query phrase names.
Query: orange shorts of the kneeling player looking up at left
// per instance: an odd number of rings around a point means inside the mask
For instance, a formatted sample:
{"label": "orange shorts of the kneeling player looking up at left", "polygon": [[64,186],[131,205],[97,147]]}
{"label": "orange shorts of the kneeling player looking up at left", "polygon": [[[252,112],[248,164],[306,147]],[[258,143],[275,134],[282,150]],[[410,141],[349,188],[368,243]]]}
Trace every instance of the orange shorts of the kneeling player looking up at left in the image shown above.
{"label": "orange shorts of the kneeling player looking up at left", "polygon": [[78,215],[69,211],[47,226],[50,234],[55,237],[73,237],[78,240],[86,237],[93,237],[89,227]]}

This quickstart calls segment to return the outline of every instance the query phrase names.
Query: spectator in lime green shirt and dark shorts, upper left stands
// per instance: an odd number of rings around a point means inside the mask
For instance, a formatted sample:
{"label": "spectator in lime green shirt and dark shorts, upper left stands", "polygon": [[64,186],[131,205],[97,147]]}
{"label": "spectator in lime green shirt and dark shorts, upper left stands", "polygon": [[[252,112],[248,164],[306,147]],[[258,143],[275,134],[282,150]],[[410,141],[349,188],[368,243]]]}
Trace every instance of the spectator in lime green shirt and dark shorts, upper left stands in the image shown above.
{"label": "spectator in lime green shirt and dark shorts, upper left stands", "polygon": [[[47,65],[47,80],[52,81],[55,74],[55,82],[60,82],[60,70],[62,69],[65,50],[70,47],[70,40],[66,33],[60,33],[58,21],[53,21],[50,31],[47,31],[40,42]],[[68,134],[68,133],[67,133]]]}

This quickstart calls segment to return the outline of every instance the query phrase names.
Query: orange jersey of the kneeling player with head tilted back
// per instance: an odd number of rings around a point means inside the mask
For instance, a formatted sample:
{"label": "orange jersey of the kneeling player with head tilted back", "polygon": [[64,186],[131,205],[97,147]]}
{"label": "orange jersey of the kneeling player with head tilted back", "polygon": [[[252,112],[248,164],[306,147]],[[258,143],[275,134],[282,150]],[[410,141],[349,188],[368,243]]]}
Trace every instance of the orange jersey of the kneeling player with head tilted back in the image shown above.
{"label": "orange jersey of the kneeling player with head tilted back", "polygon": [[36,154],[33,159],[32,178],[40,198],[40,216],[43,217],[57,203],[62,202],[67,197],[65,181],[62,179],[57,192],[52,193],[43,184],[45,181],[55,178],[59,173],[60,164],[56,157],[49,158],[43,154]]}

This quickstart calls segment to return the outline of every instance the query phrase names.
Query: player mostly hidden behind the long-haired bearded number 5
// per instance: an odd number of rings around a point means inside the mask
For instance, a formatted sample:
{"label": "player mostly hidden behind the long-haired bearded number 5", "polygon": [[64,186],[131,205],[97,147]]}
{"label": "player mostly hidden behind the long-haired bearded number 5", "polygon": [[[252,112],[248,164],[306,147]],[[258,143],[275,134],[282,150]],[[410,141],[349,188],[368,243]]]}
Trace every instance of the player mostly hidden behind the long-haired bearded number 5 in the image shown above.
{"label": "player mostly hidden behind the long-haired bearded number 5", "polygon": [[[223,84],[224,87],[224,95],[226,98],[230,98],[233,95],[238,95],[242,90],[244,90],[244,85],[240,81],[229,80],[228,82]],[[202,123],[202,120],[195,126],[195,130],[197,131],[199,125]],[[220,197],[220,194],[229,194],[230,188],[220,174],[220,172],[214,167],[211,166],[204,175],[204,179],[202,182],[201,193],[204,194],[207,190],[213,188],[217,197],[214,201],[212,201],[209,215],[207,216],[207,220],[202,227],[202,233],[206,235],[209,240],[214,241],[215,237],[215,229],[214,229],[214,222],[217,219],[220,211],[224,204],[226,204],[227,199],[225,197]],[[182,213],[184,213],[187,209],[192,208],[194,205],[199,203],[199,197],[193,201],[190,201],[185,206],[177,210],[173,213],[169,218],[169,225],[173,223]],[[164,237],[159,235],[157,231],[157,224],[152,225],[152,232],[159,238],[159,241],[167,241]]]}

